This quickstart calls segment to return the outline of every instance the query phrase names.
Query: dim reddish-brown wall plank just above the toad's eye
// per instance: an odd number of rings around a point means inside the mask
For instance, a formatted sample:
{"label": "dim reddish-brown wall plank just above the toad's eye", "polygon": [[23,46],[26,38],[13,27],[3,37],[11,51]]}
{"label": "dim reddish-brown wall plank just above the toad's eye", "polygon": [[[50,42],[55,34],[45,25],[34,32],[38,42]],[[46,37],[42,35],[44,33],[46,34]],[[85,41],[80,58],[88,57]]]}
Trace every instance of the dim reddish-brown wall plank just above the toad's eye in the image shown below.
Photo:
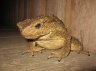
{"label": "dim reddish-brown wall plank just above the toad's eye", "polygon": [[29,18],[46,14],[46,0],[28,0],[27,3],[27,16]]}

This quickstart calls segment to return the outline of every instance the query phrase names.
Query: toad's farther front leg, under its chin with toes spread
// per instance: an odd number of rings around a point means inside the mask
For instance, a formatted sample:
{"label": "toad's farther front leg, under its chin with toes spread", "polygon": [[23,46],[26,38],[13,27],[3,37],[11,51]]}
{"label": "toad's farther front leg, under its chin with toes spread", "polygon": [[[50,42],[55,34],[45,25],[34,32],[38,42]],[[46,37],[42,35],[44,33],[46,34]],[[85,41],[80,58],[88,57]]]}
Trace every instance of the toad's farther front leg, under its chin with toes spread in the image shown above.
{"label": "toad's farther front leg, under its chin with toes spread", "polygon": [[40,52],[42,53],[42,50],[44,50],[45,48],[42,47],[38,47],[36,42],[28,42],[29,44],[29,49],[27,51],[25,51],[23,54],[25,53],[31,53],[32,56],[34,56],[34,52]]}

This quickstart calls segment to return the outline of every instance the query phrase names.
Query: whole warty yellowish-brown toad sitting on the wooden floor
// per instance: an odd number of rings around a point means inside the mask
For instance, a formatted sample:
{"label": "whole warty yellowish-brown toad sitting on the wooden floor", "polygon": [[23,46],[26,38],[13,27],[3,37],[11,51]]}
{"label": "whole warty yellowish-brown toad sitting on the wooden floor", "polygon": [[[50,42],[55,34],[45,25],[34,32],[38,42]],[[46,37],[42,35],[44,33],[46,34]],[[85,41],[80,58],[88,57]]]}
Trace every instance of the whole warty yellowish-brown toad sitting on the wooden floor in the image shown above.
{"label": "whole warty yellowish-brown toad sitting on the wooden floor", "polygon": [[[27,25],[27,26],[26,26]],[[59,61],[69,55],[70,51],[83,51],[81,42],[72,37],[65,28],[64,23],[56,16],[40,16],[36,19],[27,19],[17,24],[22,36],[29,42],[30,52],[42,52],[43,49],[54,50],[48,58],[58,57]]]}

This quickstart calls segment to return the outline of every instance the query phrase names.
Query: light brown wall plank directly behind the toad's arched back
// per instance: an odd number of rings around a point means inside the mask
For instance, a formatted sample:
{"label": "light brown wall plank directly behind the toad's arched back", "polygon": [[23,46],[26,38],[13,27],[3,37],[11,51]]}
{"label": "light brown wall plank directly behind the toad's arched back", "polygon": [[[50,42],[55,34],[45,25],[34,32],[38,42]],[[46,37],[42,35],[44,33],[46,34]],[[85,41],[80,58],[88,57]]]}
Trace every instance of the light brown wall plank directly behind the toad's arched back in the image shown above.
{"label": "light brown wall plank directly behind the toad's arched back", "polygon": [[64,22],[65,6],[66,0],[47,0],[47,14],[58,16]]}

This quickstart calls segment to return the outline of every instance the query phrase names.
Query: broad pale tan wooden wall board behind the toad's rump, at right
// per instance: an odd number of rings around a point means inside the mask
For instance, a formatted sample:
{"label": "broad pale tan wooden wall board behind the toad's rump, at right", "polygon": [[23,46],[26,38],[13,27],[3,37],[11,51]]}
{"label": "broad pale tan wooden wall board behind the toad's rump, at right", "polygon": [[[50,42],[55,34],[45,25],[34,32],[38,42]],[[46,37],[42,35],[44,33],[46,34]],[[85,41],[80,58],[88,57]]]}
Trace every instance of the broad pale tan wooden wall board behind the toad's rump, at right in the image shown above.
{"label": "broad pale tan wooden wall board behind the toad's rump, at right", "polygon": [[85,49],[96,53],[96,0],[72,0],[71,32],[80,38],[83,33]]}

